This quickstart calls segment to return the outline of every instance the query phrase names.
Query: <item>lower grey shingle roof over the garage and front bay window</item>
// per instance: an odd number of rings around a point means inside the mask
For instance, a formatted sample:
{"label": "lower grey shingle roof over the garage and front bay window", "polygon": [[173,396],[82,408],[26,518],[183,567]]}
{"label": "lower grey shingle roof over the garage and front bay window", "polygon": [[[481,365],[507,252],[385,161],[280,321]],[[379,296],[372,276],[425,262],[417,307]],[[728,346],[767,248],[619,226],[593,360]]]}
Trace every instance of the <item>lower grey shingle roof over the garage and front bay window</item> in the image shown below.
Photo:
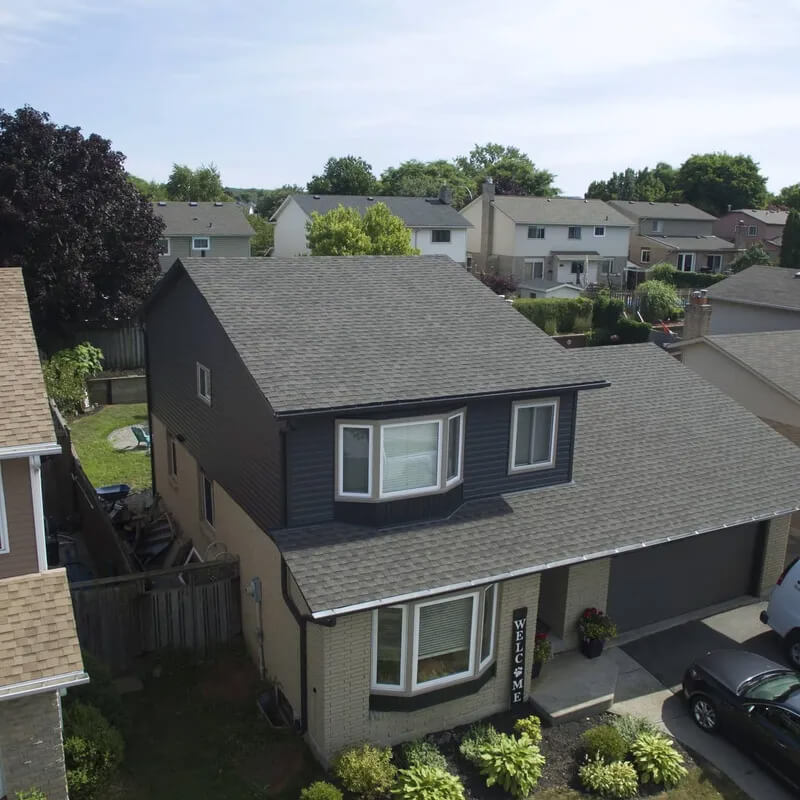
{"label": "lower grey shingle roof over the garage and front bay window", "polygon": [[274,531],[312,614],[537,572],[800,504],[800,448],[663,350],[566,352],[611,381],[578,399],[573,482],[474,500],[439,522]]}

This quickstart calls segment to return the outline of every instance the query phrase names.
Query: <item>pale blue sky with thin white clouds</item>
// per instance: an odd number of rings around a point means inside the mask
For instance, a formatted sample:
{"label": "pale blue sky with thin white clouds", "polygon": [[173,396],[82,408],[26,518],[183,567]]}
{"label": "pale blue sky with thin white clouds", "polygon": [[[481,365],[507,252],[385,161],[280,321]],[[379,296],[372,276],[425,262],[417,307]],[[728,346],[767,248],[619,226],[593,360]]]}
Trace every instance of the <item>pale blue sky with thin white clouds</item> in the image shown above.
{"label": "pale blue sky with thin white clouds", "polygon": [[0,107],[112,140],[165,180],[304,184],[516,145],[566,194],[747,153],[800,181],[800,0],[0,0]]}

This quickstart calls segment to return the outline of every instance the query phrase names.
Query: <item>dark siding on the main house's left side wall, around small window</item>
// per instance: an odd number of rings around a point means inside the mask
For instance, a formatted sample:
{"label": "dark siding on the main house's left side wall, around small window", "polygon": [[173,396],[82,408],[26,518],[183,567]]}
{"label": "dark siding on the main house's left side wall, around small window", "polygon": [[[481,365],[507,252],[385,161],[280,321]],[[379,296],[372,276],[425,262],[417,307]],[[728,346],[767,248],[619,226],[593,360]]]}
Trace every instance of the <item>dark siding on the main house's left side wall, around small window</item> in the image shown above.
{"label": "dark siding on the main house's left side wall, around small window", "polygon": [[[148,310],[151,410],[206,474],[262,528],[283,523],[281,434],[269,403],[191,280],[163,288]],[[197,362],[211,370],[211,406]]]}

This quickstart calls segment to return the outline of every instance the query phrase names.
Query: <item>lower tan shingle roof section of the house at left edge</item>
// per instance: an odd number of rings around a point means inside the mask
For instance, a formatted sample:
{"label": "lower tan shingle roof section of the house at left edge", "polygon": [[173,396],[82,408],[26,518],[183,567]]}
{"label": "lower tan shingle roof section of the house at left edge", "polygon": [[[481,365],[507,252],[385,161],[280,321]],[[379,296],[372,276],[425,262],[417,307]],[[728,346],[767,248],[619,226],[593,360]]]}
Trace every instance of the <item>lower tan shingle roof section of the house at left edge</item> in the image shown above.
{"label": "lower tan shingle roof section of the house at left edge", "polygon": [[0,608],[0,700],[86,682],[64,569],[0,580]]}

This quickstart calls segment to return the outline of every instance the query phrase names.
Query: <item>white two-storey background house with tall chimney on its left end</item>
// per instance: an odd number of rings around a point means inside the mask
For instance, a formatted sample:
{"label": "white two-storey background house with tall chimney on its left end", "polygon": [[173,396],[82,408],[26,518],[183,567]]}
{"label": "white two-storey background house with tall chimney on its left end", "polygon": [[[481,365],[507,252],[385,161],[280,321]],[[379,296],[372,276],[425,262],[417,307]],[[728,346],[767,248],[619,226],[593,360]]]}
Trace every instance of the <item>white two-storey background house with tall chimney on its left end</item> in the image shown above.
{"label": "white two-storey background house with tall chimney on its left end", "polygon": [[[472,223],[467,252],[474,269],[537,286],[620,284],[633,223],[602,200],[495,196],[483,192],[461,210]],[[542,282],[546,282],[542,284]],[[534,287],[532,294],[541,296]]]}

